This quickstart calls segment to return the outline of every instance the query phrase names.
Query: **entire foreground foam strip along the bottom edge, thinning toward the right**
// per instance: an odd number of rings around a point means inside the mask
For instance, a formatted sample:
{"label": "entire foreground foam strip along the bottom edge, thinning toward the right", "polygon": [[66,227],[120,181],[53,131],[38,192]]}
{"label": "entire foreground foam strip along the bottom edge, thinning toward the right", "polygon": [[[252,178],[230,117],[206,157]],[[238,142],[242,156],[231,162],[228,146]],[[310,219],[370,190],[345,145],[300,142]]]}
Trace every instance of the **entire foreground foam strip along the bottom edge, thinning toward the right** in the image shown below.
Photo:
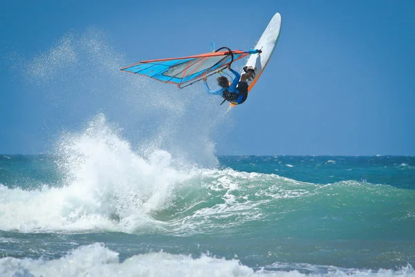
{"label": "entire foreground foam strip along the bottom edge, thinning toward the right", "polygon": [[[139,254],[120,261],[116,251],[108,249],[101,243],[94,243],[79,247],[55,260],[1,258],[0,276],[415,276],[411,265],[396,271],[389,269],[376,271],[341,269],[314,265],[301,265],[298,270],[282,270],[285,266],[275,263],[266,269],[255,271],[242,265],[239,260],[225,260],[208,255],[192,258],[192,256],[173,255],[165,252]],[[300,271],[311,273],[304,274]]]}

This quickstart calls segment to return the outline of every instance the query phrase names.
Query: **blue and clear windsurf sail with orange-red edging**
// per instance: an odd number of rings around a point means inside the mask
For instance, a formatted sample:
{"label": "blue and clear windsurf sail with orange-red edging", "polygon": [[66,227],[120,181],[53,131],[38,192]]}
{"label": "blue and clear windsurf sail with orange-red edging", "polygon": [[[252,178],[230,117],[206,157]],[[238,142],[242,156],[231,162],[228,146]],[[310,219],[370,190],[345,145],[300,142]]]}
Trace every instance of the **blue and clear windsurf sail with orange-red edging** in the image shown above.
{"label": "blue and clear windsurf sail with orange-red edging", "polygon": [[176,84],[178,88],[184,88],[205,76],[216,73],[233,61],[259,52],[261,51],[232,51],[229,48],[222,47],[215,52],[201,55],[140,61],[138,64],[133,64],[121,70],[151,77],[163,83]]}

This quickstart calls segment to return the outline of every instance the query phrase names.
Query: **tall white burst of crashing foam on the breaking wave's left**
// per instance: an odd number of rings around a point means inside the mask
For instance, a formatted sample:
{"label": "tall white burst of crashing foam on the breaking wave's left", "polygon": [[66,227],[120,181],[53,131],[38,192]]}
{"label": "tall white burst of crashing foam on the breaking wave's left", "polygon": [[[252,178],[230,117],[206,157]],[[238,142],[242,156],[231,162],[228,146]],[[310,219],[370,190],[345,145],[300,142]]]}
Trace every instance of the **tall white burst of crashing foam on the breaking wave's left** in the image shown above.
{"label": "tall white burst of crashing foam on the breaking wave's left", "polygon": [[0,229],[111,229],[151,225],[149,213],[168,207],[172,190],[190,178],[166,151],[138,155],[98,116],[86,131],[67,133],[58,146],[62,187],[26,191],[0,186]]}

